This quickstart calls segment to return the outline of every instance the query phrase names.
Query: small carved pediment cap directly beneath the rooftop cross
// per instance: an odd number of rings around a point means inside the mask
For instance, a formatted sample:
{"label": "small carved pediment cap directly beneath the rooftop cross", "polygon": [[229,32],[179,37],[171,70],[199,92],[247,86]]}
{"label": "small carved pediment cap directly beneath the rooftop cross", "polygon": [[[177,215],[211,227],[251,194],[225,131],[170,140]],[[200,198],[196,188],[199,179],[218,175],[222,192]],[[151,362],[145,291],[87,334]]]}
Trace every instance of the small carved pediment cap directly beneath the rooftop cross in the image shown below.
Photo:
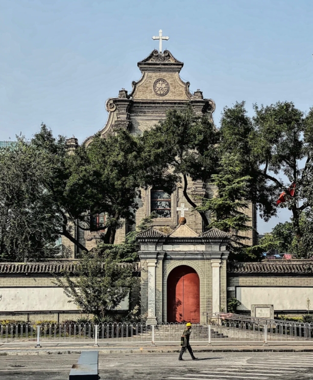
{"label": "small carved pediment cap directly beneath the rooftop cross", "polygon": [[180,72],[183,65],[183,62],[178,61],[168,50],[164,50],[163,53],[154,50],[147,58],[138,62],[141,73],[147,71]]}

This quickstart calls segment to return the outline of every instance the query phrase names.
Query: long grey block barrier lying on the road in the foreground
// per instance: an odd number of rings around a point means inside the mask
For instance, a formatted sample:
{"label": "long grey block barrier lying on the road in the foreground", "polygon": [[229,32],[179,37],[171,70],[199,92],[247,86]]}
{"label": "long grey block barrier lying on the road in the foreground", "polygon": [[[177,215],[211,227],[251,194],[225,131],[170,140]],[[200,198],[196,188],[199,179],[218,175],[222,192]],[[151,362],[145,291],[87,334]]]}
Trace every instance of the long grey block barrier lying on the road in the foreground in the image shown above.
{"label": "long grey block barrier lying on the road in the foreground", "polygon": [[73,364],[68,380],[98,380],[98,351],[83,351]]}

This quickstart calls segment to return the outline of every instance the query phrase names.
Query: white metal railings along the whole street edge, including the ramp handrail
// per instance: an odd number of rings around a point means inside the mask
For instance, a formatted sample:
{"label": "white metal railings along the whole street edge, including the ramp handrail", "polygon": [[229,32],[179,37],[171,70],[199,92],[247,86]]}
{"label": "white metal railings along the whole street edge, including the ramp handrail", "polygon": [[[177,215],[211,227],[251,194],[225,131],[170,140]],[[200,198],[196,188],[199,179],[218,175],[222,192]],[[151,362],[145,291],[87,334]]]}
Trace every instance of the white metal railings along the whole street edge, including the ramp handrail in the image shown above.
{"label": "white metal railings along the whole street edge, including the ramp handrail", "polygon": [[[179,343],[184,323],[8,323],[0,324],[0,344],[156,344]],[[209,324],[194,324],[190,341],[214,342],[313,342],[313,323],[251,320],[225,313],[213,315]]]}

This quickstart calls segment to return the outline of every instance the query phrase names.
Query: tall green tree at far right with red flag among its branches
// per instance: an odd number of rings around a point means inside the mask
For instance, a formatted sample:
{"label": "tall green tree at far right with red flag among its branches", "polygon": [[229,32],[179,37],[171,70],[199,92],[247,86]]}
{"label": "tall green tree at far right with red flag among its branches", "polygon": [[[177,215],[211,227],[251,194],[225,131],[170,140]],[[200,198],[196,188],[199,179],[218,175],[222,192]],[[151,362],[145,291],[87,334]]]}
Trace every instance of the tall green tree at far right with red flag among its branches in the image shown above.
{"label": "tall green tree at far right with red flag among its branches", "polygon": [[[254,105],[254,111],[254,116],[249,117],[244,102],[224,109],[220,130],[223,150],[239,155],[242,175],[251,177],[248,199],[258,205],[264,220],[276,215],[280,193],[288,194],[288,188],[295,184],[295,195],[287,195],[286,202],[278,207],[292,211],[293,228],[299,239],[301,212],[311,206],[312,182],[307,174],[312,155],[313,110],[304,115],[292,102],[277,102]],[[280,178],[281,174],[286,181]]]}

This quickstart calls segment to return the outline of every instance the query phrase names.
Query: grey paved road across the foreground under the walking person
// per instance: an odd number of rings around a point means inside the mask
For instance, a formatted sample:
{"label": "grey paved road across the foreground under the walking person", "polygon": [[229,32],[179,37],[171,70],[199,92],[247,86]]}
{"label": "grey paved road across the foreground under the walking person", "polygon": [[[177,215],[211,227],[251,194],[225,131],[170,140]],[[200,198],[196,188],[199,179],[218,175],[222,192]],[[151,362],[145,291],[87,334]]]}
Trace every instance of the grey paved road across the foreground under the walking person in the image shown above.
{"label": "grey paved road across the foreground under the walking person", "polygon": [[[101,354],[102,379],[172,380],[306,380],[313,379],[313,353],[188,353]],[[0,357],[1,380],[67,380],[79,355]]]}

